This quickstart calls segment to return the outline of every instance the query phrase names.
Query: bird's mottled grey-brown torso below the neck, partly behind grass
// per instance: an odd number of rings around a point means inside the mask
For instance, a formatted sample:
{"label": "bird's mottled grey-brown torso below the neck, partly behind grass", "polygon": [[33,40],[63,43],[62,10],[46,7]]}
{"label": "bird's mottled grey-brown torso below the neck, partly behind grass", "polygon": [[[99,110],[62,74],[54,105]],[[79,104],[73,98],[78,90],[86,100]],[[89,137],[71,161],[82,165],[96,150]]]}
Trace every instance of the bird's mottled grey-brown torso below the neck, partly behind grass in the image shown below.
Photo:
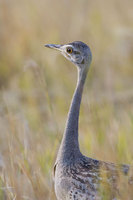
{"label": "bird's mottled grey-brown torso below the neck, partly behind grass", "polygon": [[[71,163],[57,162],[55,191],[58,200],[113,200],[120,198],[121,184],[133,189],[129,166],[116,166],[81,156]],[[124,186],[124,185],[123,185]],[[123,188],[124,189],[124,188]]]}

